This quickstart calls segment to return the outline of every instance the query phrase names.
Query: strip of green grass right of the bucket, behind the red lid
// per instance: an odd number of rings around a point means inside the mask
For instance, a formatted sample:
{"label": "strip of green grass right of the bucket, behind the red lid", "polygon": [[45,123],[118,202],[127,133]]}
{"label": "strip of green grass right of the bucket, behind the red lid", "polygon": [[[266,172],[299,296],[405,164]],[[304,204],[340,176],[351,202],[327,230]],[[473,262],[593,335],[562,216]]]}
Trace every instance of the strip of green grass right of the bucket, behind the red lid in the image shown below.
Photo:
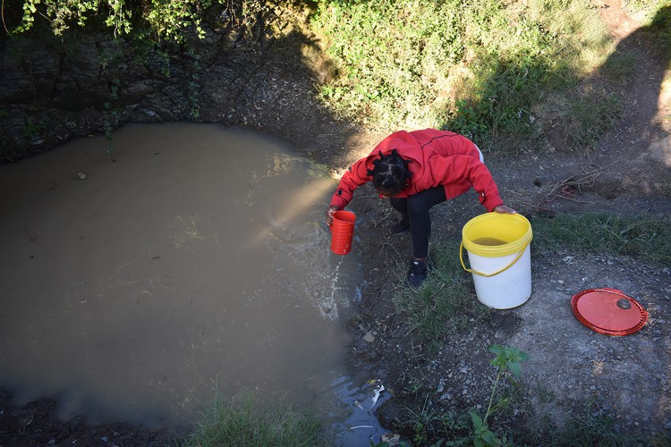
{"label": "strip of green grass right of the bucket, behind the red lid", "polygon": [[671,265],[671,216],[590,213],[531,218],[534,245],[543,251],[626,255]]}

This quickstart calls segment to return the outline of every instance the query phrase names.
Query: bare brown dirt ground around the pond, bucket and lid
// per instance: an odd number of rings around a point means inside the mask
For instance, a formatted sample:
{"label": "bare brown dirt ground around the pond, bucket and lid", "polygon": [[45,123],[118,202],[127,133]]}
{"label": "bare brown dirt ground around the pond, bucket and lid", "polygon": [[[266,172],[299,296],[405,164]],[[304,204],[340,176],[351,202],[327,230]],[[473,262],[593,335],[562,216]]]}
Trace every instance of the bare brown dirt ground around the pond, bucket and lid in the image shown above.
{"label": "bare brown dirt ground around the pond, bucket and lid", "polygon": [[[589,156],[562,150],[565,136],[558,130],[549,134],[552,147],[537,154],[505,159],[489,156],[488,148],[483,148],[506,205],[523,215],[671,212],[668,61],[640,38],[638,23],[622,11],[619,2],[597,7],[620,39],[620,47],[633,52],[640,65],[637,78],[623,88],[624,120]],[[301,90],[300,84],[292,82],[285,89],[287,95]],[[295,103],[293,121],[284,123],[283,131],[260,128],[293,133],[294,146],[330,166],[335,175],[386,136],[333,121],[316,124],[319,111],[302,110],[300,103]],[[305,131],[310,128],[315,131]],[[334,148],[345,147],[348,157],[332,155]],[[410,240],[387,235],[386,226],[395,216],[372,190],[358,191],[352,207],[358,215],[363,247],[357,249],[368,285],[359,318],[350,324],[351,364],[352,369],[367,370],[382,380],[392,394],[378,410],[390,432],[412,439],[412,427],[404,424],[405,409],[421,408],[428,393],[434,396],[436,411],[484,409],[495,375],[487,347],[502,344],[524,350],[530,358],[523,364],[522,391],[513,410],[497,422],[548,426],[589,412],[613,417],[616,430],[623,434],[657,433],[666,435],[667,443],[671,439],[669,266],[648,266],[630,257],[537,253],[531,243],[531,299],[519,308],[493,311],[487,325],[473,325],[470,331],[455,335],[436,358],[427,358],[403,326],[403,316],[396,313],[391,299],[398,287],[399,265],[409,259]],[[460,239],[463,223],[481,212],[477,200],[468,194],[436,207],[434,240]],[[580,291],[599,287],[637,299],[650,314],[648,324],[624,337],[596,333],[582,325],[573,316],[570,300]],[[22,408],[8,401],[9,395],[0,393],[0,445],[164,445],[171,439],[167,433],[123,425],[87,426],[84,418],[60,423],[53,418],[55,402],[50,400]]]}

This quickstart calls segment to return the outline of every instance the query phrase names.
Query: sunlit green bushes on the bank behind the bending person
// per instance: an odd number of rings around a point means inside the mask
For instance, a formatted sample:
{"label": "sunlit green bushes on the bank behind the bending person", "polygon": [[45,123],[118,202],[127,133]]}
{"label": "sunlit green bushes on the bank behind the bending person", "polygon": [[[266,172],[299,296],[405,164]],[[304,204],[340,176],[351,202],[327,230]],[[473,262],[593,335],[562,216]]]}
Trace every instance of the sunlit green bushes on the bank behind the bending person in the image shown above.
{"label": "sunlit green bushes on the bank behind the bending person", "polygon": [[554,129],[588,150],[621,116],[618,87],[634,70],[626,53],[608,57],[614,42],[584,0],[321,0],[313,26],[337,68],[322,86],[337,114],[511,149],[544,148]]}

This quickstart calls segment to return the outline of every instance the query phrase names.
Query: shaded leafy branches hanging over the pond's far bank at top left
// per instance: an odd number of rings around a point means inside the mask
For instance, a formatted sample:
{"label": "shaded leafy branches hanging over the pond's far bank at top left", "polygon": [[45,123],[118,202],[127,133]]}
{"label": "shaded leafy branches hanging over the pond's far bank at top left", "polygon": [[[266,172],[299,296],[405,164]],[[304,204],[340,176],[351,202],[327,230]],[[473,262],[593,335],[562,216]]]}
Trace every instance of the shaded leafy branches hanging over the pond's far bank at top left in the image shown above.
{"label": "shaded leafy branches hanging over the pond's far bank at top left", "polygon": [[[179,77],[171,82],[188,105],[186,111],[179,112],[199,120],[200,76],[205,67],[194,44],[205,37],[206,30],[217,30],[217,38],[230,33],[233,39],[226,41],[230,45],[234,39],[236,44],[250,46],[262,39],[264,44],[281,40],[290,32],[282,14],[283,8],[289,7],[265,0],[22,0],[4,2],[0,15],[8,41],[25,39],[31,45],[31,39],[41,40],[48,52],[60,58],[59,71],[70,70],[72,61],[81,58],[77,53],[82,48],[82,35],[99,39],[95,48],[109,96],[102,99],[97,92],[89,97],[92,104],[87,107],[95,107],[102,115],[96,131],[104,132],[107,155],[112,159],[111,134],[123,123],[124,112],[133,99],[129,97],[133,89],[127,89],[132,80],[126,75],[137,70],[160,71],[169,80],[174,67],[179,66]],[[22,47],[8,46],[5,55],[22,60],[26,56],[17,50]],[[119,71],[119,67],[127,70]],[[36,74],[38,84],[45,81],[38,78]],[[50,124],[42,126],[39,122],[38,118],[27,119],[25,130],[12,136],[0,131],[0,161],[32,152],[30,146],[45,139]]]}

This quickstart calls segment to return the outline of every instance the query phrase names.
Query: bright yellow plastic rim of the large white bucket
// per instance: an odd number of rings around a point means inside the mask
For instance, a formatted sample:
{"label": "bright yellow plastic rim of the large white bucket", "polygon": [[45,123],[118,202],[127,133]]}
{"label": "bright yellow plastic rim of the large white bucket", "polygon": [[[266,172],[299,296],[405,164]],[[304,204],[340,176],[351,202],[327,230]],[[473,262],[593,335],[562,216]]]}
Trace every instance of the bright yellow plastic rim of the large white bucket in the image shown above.
{"label": "bright yellow plastic rim of the large white bucket", "polygon": [[[480,225],[496,224],[497,228],[493,232],[488,232],[488,236],[503,238],[506,233],[504,225],[514,225],[514,232],[517,236],[515,240],[500,245],[480,245],[470,239],[474,229]],[[519,227],[519,228],[517,228]],[[506,234],[508,235],[508,234]],[[509,215],[505,213],[491,212],[484,215],[473,217],[468,223],[463,225],[462,243],[463,247],[469,252],[481,257],[504,257],[522,252],[531,243],[533,232],[529,220],[520,214]]]}

